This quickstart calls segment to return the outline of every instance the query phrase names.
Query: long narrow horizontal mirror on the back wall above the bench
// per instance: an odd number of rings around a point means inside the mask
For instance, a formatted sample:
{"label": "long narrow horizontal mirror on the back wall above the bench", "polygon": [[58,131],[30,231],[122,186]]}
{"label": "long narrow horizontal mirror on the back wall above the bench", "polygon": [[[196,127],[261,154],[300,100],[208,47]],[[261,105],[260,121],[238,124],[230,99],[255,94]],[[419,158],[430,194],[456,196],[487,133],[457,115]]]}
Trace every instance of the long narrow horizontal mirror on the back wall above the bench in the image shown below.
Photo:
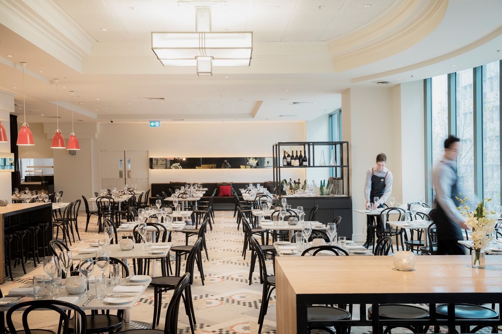
{"label": "long narrow horizontal mirror on the back wall above the bench", "polygon": [[150,158],[150,169],[254,169],[272,166],[272,157]]}

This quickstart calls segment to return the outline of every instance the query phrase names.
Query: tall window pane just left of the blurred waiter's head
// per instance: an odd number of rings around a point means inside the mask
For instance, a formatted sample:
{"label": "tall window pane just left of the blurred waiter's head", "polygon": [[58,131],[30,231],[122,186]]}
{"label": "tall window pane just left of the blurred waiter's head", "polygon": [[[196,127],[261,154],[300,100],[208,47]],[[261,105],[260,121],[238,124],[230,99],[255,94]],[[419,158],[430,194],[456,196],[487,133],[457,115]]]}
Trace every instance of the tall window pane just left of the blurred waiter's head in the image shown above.
{"label": "tall window pane just left of the blurred waiter's head", "polygon": [[432,88],[432,165],[444,154],[444,140],[448,137],[448,75],[434,77]]}

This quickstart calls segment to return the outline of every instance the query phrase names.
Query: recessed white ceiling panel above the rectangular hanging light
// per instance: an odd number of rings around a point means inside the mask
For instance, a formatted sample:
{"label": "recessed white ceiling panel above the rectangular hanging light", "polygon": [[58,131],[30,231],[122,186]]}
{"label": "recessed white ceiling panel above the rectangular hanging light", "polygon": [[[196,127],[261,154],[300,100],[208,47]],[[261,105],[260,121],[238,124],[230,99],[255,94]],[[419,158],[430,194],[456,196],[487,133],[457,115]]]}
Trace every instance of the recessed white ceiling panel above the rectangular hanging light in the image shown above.
{"label": "recessed white ceiling panel above the rectangular hanging light", "polygon": [[[361,27],[401,2],[227,0],[211,6],[212,30],[252,31],[255,42],[327,41]],[[149,43],[151,32],[195,31],[195,7],[177,0],[56,3],[97,42]],[[371,6],[364,7],[368,4]]]}

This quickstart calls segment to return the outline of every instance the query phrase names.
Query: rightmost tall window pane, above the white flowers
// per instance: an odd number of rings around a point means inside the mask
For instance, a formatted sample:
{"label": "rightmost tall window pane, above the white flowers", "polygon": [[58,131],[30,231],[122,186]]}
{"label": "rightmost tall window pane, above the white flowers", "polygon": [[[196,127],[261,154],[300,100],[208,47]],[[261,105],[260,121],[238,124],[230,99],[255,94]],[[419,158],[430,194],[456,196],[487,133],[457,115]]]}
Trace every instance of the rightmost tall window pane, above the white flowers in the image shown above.
{"label": "rightmost tall window pane, above the white flowers", "polygon": [[483,65],[483,197],[500,205],[500,66]]}

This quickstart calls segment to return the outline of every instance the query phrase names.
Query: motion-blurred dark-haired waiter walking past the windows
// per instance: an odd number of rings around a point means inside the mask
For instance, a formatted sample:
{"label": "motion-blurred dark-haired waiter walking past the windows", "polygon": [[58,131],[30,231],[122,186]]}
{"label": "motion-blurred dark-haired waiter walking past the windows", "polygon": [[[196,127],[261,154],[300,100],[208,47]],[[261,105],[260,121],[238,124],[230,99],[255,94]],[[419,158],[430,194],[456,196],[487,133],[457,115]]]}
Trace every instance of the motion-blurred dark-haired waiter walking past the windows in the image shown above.
{"label": "motion-blurred dark-haired waiter walking past the windows", "polygon": [[437,228],[438,255],[465,254],[465,247],[458,240],[463,240],[462,229],[467,229],[466,219],[457,209],[460,201],[455,198],[460,197],[455,168],[459,150],[460,139],[449,136],[444,141],[444,156],[432,171],[436,199],[430,217]]}

